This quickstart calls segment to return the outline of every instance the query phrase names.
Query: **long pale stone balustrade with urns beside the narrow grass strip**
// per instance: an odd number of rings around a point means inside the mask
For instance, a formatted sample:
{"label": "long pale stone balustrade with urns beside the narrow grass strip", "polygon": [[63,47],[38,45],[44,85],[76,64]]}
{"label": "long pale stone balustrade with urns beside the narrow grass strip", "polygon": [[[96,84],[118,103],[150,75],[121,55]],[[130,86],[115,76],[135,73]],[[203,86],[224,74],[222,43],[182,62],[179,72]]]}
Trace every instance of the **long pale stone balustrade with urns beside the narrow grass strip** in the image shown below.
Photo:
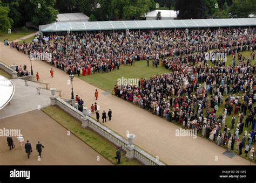
{"label": "long pale stone balustrade with urns beside the narrow grass strip", "polygon": [[116,132],[113,132],[106,126],[92,119],[91,117],[85,116],[83,112],[80,112],[62,99],[56,96],[52,96],[50,98],[51,105],[57,105],[59,108],[68,112],[71,116],[78,119],[80,122],[82,122],[82,128],[90,128],[93,131],[99,133],[99,135],[109,140],[111,143],[117,146],[122,146],[122,150],[126,151],[126,158],[137,159],[138,161],[140,161],[140,163],[144,165],[165,165],[158,159],[158,157],[153,157],[136,145],[130,144],[128,140],[126,140],[122,136],[119,136]]}

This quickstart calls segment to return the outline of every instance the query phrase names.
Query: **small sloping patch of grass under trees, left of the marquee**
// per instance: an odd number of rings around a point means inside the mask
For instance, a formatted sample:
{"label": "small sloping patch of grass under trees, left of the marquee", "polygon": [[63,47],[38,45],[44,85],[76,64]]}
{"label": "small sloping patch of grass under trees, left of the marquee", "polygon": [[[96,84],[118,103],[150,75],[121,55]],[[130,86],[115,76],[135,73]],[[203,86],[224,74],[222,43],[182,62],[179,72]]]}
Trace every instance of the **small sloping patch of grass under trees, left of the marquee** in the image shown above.
{"label": "small sloping patch of grass under trees, left of the marquee", "polygon": [[[15,32],[15,31],[17,32]],[[0,32],[0,41],[3,42],[4,39],[8,39],[9,41],[13,41],[19,38],[22,38],[24,36],[28,36],[29,34],[35,33],[37,32],[37,30],[35,29],[28,29],[28,30],[24,30],[21,27],[15,28],[13,30],[11,30],[11,33],[9,33],[8,31],[1,31]]]}

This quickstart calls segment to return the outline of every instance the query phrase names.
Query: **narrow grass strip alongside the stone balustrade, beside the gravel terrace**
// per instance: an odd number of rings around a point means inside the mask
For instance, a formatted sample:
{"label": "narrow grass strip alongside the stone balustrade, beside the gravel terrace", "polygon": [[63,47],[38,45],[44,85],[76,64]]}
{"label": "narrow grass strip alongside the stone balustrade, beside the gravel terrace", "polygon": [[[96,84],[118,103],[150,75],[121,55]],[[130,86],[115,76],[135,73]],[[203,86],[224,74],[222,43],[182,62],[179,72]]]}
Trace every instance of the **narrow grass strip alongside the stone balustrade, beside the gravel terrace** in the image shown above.
{"label": "narrow grass strip alongside the stone balustrade, beside the gravel terrace", "polygon": [[[68,113],[63,111],[57,106],[49,106],[42,109],[47,115],[55,119],[59,124],[64,126],[64,128],[70,130],[75,136],[83,140],[86,144],[96,150],[106,159],[111,161],[111,163],[116,164],[116,150],[117,147],[110,143],[109,140],[98,135],[90,129],[83,129],[81,123],[77,121],[74,117],[70,116]],[[129,160],[125,158],[125,152],[122,151],[121,163],[119,165],[141,165],[137,160]]]}

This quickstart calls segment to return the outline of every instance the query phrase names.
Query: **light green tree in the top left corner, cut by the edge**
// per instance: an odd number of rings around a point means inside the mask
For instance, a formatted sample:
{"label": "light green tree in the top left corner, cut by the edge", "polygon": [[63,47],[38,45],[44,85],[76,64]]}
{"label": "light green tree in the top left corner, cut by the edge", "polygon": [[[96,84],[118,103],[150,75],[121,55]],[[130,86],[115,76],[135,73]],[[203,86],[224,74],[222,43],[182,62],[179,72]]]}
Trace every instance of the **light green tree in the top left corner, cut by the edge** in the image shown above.
{"label": "light green tree in the top left corner, cut by the edge", "polygon": [[0,30],[7,31],[11,29],[14,21],[8,17],[10,9],[8,6],[3,6],[2,1],[0,1]]}

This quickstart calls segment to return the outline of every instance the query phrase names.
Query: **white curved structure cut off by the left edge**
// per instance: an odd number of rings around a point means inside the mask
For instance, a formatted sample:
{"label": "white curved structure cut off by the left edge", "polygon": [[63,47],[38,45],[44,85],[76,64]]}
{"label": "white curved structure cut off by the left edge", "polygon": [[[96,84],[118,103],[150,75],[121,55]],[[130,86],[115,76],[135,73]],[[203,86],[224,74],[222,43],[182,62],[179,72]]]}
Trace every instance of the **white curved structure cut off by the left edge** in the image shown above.
{"label": "white curved structure cut off by the left edge", "polygon": [[14,83],[0,75],[0,110],[7,105],[14,96]]}

